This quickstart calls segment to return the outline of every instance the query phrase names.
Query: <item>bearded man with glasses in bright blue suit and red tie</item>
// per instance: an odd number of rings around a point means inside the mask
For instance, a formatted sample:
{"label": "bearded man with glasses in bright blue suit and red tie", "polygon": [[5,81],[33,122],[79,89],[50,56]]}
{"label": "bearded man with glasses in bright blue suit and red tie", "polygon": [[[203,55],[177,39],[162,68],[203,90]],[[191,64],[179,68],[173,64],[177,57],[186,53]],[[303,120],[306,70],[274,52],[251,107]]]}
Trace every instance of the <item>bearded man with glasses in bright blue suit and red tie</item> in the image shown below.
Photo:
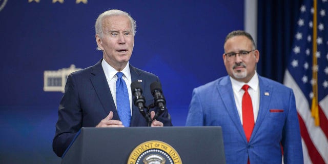
{"label": "bearded man with glasses in bright blue suit and red tie", "polygon": [[229,75],[193,90],[186,126],[221,126],[227,163],[303,163],[294,93],[256,73],[259,55],[249,33],[229,33]]}

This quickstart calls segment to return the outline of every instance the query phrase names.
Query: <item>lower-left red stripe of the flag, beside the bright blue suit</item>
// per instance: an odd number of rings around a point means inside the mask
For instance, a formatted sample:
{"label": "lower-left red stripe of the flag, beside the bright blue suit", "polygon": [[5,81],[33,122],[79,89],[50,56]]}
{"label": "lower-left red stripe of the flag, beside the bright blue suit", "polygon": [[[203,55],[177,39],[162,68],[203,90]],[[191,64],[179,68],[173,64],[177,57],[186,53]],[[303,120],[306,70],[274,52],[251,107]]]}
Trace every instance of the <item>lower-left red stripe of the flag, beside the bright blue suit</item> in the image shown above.
{"label": "lower-left red stripe of the flag, beside the bright blue suit", "polygon": [[312,139],[309,135],[308,129],[306,129],[306,126],[304,124],[304,121],[302,119],[302,117],[299,115],[299,113],[297,113],[298,115],[298,121],[299,121],[299,126],[301,129],[301,135],[302,138],[305,142],[306,147],[311,150],[309,153],[309,156],[312,160],[313,163],[324,163],[324,160],[322,159],[320,153],[318,152],[318,150],[316,149],[316,147],[314,146]]}

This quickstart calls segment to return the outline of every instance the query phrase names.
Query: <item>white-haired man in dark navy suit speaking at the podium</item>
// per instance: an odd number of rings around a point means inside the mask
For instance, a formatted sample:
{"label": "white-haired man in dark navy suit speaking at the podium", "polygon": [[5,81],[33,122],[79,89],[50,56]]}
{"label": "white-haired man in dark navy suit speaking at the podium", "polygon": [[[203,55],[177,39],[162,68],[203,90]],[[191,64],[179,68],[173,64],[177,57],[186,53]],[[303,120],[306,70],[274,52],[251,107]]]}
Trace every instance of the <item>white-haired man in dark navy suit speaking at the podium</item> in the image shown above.
{"label": "white-haired man in dark navy suit speaking at the podium", "polygon": [[[129,64],[135,28],[134,19],[124,11],[109,10],[98,16],[96,42],[97,49],[103,51],[103,58],[96,65],[74,72],[67,78],[52,143],[57,156],[63,155],[81,127],[148,126],[133,105],[130,85],[132,81],[141,83],[146,105],[149,105],[154,102],[150,85],[159,78]],[[121,98],[126,99],[121,101]],[[118,106],[124,114],[120,114]],[[153,110],[152,119],[154,115]],[[172,126],[167,109],[151,122],[151,126]]]}

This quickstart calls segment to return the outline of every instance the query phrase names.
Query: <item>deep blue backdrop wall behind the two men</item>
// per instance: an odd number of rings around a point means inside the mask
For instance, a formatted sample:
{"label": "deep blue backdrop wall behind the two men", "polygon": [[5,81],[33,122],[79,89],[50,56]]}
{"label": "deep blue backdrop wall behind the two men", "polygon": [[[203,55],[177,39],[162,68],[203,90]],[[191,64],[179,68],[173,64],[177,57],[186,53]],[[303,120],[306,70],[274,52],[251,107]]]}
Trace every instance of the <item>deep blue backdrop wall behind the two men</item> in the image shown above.
{"label": "deep blue backdrop wall behind the two men", "polygon": [[63,93],[43,90],[44,71],[94,65],[94,23],[109,9],[136,20],[130,64],[160,77],[174,126],[185,126],[193,88],[227,74],[224,37],[243,29],[241,0],[0,0],[0,163],[59,163],[51,144]]}

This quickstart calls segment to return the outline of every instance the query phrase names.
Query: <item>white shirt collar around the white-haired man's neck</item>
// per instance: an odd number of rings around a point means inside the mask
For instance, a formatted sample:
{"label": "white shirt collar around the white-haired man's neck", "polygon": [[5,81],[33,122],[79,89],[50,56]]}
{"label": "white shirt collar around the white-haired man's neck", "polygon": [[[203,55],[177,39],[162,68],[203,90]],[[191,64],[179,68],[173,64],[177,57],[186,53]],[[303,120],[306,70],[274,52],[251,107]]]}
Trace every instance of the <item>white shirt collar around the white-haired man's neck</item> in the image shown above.
{"label": "white shirt collar around the white-haired man's neck", "polygon": [[[109,80],[113,79],[114,77],[116,78],[116,73],[118,71],[115,70],[115,68],[113,68],[111,65],[109,65],[105,59],[103,59],[103,61],[101,61],[101,66],[103,66],[104,72],[106,75],[108,75]],[[124,76],[131,81],[131,74],[130,74],[130,65],[129,65],[129,61],[128,64],[125,66],[125,68],[121,71],[122,73],[124,73]]]}

